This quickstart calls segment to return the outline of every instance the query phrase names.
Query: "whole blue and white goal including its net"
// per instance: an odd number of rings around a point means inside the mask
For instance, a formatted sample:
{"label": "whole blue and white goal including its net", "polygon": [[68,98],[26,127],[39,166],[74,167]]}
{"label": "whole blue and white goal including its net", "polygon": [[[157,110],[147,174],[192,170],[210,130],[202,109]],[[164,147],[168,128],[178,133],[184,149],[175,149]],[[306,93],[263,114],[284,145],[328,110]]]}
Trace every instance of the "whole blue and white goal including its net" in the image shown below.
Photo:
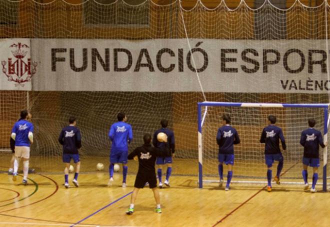
{"label": "whole blue and white goal including its net", "polygon": [[[238,131],[241,144],[235,145],[235,163],[232,182],[266,183],[266,166],[263,158],[264,144],[259,143],[262,128],[267,124],[267,115],[273,114],[283,129],[287,151],[283,152],[284,167],[281,183],[302,184],[303,147],[299,144],[301,131],[308,128],[307,119],[315,118],[315,128],[323,131],[324,142],[327,141],[329,104],[287,104],[287,103],[243,103],[243,102],[198,102],[198,182],[218,182],[216,144],[217,128],[221,126],[221,115],[231,116],[233,127]],[[322,184],[323,191],[327,188],[327,146],[323,149],[317,184]],[[273,172],[276,172],[275,162]],[[225,173],[225,168],[224,168]],[[309,182],[312,168],[308,168]],[[225,175],[225,174],[224,174]]]}

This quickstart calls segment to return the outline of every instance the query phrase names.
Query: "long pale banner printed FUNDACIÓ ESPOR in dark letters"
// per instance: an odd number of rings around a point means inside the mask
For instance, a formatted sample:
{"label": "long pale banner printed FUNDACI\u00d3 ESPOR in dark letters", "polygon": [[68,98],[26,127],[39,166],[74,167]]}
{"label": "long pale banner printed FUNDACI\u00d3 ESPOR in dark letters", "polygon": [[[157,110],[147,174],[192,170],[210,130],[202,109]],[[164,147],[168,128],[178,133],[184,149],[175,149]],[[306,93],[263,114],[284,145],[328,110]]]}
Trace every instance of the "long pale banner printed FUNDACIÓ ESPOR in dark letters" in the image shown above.
{"label": "long pale banner printed FUNDACI\u00d3 ESPOR in dark letters", "polygon": [[32,89],[200,91],[195,68],[210,92],[330,89],[324,39],[189,41],[192,54],[186,39],[31,39]]}

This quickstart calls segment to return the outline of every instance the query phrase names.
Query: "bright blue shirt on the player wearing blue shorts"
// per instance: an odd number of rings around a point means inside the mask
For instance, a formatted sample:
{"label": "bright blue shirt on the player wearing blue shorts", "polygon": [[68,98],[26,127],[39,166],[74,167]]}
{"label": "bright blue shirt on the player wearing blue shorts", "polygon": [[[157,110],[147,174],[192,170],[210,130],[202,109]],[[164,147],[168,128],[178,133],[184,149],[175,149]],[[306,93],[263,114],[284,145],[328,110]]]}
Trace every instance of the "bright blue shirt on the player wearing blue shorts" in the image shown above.
{"label": "bright blue shirt on the player wearing blue shorts", "polygon": [[109,138],[112,142],[111,150],[128,151],[128,143],[133,139],[133,131],[130,124],[118,121],[111,125]]}

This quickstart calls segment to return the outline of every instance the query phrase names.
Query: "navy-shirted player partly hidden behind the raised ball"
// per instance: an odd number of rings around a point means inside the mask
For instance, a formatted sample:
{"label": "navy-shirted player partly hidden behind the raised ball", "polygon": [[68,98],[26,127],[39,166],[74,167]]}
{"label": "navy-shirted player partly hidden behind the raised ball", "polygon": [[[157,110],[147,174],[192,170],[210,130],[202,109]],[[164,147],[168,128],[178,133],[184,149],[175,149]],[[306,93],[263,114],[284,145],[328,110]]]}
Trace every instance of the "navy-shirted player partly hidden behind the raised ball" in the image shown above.
{"label": "navy-shirted player partly hidden behind the raised ball", "polygon": [[[153,133],[153,138],[152,138],[152,144],[154,147],[157,148],[162,148],[164,146],[169,147],[171,156],[168,157],[157,157],[156,159],[156,164],[157,164],[157,175],[159,179],[159,187],[162,188],[162,181],[161,181],[161,165],[167,164],[167,170],[166,170],[166,179],[164,181],[164,184],[169,187],[169,176],[172,172],[172,157],[174,157],[174,152],[175,152],[175,140],[174,140],[174,132],[170,129],[167,128],[168,121],[166,119],[160,120],[160,125],[161,128],[156,130]],[[157,140],[157,134],[159,132],[163,132],[167,135],[167,142],[159,142]]]}

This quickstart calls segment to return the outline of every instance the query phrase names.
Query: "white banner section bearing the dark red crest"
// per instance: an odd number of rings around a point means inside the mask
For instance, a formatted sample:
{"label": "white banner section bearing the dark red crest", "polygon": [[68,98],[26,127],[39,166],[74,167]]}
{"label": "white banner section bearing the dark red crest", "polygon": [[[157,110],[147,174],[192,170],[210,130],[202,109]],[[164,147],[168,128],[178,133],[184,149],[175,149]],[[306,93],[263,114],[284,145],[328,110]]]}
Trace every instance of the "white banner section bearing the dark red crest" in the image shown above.
{"label": "white banner section bearing the dark red crest", "polygon": [[0,39],[0,90],[31,90],[36,63],[30,59],[30,39]]}

